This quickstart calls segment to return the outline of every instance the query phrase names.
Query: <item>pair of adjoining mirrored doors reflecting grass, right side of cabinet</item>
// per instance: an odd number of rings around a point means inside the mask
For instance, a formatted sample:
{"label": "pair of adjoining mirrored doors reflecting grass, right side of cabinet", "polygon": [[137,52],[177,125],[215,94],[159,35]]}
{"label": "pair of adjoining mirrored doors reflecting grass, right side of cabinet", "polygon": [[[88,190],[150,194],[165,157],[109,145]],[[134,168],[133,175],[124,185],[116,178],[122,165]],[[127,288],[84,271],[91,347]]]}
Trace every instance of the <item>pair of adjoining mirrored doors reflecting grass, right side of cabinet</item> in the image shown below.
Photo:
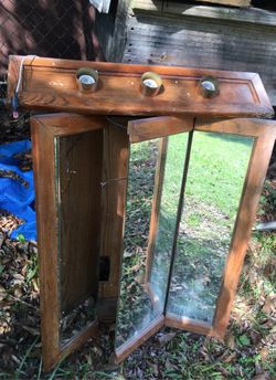
{"label": "pair of adjoining mirrored doors reflecting grass, right side of cabinet", "polygon": [[202,123],[142,141],[153,133],[141,123],[130,149],[117,361],[162,326],[224,336],[273,148],[269,123]]}

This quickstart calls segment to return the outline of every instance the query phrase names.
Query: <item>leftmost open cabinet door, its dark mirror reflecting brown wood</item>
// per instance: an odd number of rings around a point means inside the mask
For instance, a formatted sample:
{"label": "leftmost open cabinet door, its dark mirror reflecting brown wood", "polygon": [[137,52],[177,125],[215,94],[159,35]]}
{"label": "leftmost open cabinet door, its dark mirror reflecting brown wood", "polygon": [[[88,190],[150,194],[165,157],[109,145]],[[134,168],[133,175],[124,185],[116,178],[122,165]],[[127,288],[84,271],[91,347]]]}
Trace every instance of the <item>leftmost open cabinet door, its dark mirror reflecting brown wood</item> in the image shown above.
{"label": "leftmost open cabinet door, its dark mirror reflecting brown wood", "polygon": [[97,331],[103,128],[100,117],[31,119],[38,194],[44,368]]}

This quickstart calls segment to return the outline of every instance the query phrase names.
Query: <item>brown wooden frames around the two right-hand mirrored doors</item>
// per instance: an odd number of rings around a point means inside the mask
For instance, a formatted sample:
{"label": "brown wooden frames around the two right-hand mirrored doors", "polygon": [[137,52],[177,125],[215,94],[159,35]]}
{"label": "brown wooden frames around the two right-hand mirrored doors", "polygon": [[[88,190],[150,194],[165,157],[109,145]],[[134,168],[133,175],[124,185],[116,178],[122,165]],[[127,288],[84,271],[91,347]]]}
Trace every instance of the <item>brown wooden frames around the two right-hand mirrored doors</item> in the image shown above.
{"label": "brown wooden frames around the two right-hand mirrored doors", "polygon": [[[182,125],[180,126],[179,123],[181,123]],[[166,126],[166,128],[163,126]],[[153,130],[156,130],[157,133],[155,134]],[[190,138],[188,140],[187,147],[188,154],[181,186],[182,196],[180,197],[170,272],[172,271],[173,256],[176,254],[176,241],[183,205],[182,201],[185,189],[189,156],[193,131],[223,133],[254,138],[254,146],[247,167],[247,173],[244,180],[243,192],[240,201],[238,211],[236,214],[229,254],[225,261],[221,291],[216,300],[213,321],[212,324],[206,324],[203,321],[198,321],[184,317],[177,318],[174,315],[166,312],[166,302],[164,310],[160,313],[159,317],[151,321],[149,326],[146,327],[142,331],[140,331],[135,338],[130,339],[129,341],[124,344],[119,349],[116,350],[117,362],[124,360],[132,350],[135,350],[139,345],[141,345],[146,339],[156,334],[163,326],[184,329],[188,331],[203,334],[208,336],[214,336],[220,339],[223,339],[226,331],[231,307],[238,284],[247,243],[251,236],[252,225],[256,214],[256,209],[264,184],[266,170],[269,163],[269,158],[276,139],[276,123],[270,120],[241,118],[224,120],[194,119],[194,123],[192,123],[192,120],[189,118],[182,118],[180,120],[173,117],[159,117],[152,119],[132,120],[128,124],[129,139],[131,142],[145,141],[147,139],[162,137],[159,146],[159,159],[156,169],[145,281],[146,288],[153,307],[155,294],[150,286],[149,277],[152,265],[153,246],[159,220],[162,180],[166,161],[167,136],[172,135],[174,133],[184,131],[189,131]],[[170,276],[171,273],[169,275],[168,283],[170,283]]]}

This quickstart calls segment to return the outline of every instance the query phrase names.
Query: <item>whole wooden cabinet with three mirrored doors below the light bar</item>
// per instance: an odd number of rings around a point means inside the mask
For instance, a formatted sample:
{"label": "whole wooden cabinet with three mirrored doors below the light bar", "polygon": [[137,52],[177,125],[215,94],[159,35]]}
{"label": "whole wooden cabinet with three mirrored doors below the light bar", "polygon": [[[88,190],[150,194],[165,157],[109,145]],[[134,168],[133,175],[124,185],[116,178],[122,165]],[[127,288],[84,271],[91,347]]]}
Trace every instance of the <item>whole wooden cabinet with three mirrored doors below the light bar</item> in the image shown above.
{"label": "whole wooden cabinet with three mirrored doors below the light bar", "polygon": [[120,234],[108,232],[116,242],[107,244],[108,284],[120,283],[115,361],[162,326],[223,337],[276,137],[273,122],[131,120],[130,148],[124,135],[126,151],[117,149],[116,158],[127,178],[103,177],[105,117],[43,115],[31,126],[44,369],[94,336],[98,309],[108,305],[103,297],[98,307],[100,226],[109,218],[113,228],[103,183],[114,181],[124,186],[113,192],[112,214],[121,225],[125,218],[120,278]]}

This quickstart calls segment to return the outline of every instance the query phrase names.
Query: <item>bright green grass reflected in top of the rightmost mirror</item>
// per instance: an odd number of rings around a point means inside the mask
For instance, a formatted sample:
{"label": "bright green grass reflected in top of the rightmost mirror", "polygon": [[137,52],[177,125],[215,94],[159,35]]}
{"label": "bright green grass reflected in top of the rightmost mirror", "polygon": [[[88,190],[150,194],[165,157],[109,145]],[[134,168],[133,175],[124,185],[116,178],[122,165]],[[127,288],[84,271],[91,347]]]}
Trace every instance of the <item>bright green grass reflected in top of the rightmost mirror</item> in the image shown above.
{"label": "bright green grass reflected in top of the rightmost mirror", "polygon": [[233,218],[252,146],[247,137],[195,133],[187,193]]}

